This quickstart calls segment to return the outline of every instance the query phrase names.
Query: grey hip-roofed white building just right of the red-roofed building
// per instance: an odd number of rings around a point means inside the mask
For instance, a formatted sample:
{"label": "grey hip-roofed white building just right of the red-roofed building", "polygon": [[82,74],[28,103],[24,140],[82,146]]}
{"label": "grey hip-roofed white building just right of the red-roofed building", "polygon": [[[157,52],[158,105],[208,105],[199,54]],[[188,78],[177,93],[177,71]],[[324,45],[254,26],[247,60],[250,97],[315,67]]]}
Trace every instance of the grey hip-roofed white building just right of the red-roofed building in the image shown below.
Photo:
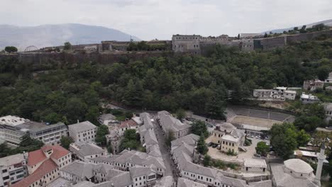
{"label": "grey hip-roofed white building just right of the red-roofed building", "polygon": [[90,142],[76,142],[70,144],[70,152],[78,159],[89,162],[88,159],[101,157],[107,154],[106,149],[103,149]]}

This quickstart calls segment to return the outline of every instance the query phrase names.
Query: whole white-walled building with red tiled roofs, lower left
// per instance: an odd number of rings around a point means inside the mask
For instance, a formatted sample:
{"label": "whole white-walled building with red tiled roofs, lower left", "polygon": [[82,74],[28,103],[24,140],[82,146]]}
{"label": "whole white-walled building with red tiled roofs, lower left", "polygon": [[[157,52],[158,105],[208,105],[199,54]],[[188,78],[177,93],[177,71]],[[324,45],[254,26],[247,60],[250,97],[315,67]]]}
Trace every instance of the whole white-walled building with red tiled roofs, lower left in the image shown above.
{"label": "whole white-walled building with red tiled roofs, lower left", "polygon": [[13,187],[46,186],[60,176],[59,169],[72,162],[72,154],[60,145],[45,145],[28,153],[28,176]]}

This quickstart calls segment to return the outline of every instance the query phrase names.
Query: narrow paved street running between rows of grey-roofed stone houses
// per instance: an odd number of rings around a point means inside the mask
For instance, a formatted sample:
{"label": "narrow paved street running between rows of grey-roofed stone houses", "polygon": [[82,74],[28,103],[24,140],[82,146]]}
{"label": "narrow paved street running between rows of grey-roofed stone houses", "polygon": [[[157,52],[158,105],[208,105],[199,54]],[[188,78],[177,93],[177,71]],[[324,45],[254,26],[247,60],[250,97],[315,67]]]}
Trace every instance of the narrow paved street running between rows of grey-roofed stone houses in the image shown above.
{"label": "narrow paved street running between rows of grey-roofed stone houses", "polygon": [[[151,116],[151,117],[153,117],[153,116]],[[166,166],[165,176],[175,177],[173,172],[176,171],[176,166],[171,159],[170,149],[165,144],[165,137],[162,135],[162,129],[160,128],[160,125],[158,125],[158,123],[157,123],[157,118],[153,117],[153,119],[155,120],[155,123],[153,124],[155,126],[154,127],[155,135],[157,137],[160,152],[162,154],[162,158],[164,159],[165,166]]]}

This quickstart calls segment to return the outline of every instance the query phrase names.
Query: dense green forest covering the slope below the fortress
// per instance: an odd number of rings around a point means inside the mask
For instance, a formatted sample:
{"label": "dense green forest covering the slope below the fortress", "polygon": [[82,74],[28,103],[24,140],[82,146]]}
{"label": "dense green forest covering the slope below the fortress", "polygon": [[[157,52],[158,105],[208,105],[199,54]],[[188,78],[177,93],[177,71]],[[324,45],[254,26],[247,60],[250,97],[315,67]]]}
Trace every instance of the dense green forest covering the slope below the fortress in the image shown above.
{"label": "dense green forest covering the slope below the fortress", "polygon": [[[70,62],[33,74],[15,57],[0,62],[0,115],[70,124],[96,122],[100,101],[134,108],[223,118],[228,102],[240,103],[252,89],[301,86],[332,70],[332,40],[316,40],[269,52],[216,46],[206,56],[174,55],[109,64]],[[228,90],[233,91],[228,101]]]}

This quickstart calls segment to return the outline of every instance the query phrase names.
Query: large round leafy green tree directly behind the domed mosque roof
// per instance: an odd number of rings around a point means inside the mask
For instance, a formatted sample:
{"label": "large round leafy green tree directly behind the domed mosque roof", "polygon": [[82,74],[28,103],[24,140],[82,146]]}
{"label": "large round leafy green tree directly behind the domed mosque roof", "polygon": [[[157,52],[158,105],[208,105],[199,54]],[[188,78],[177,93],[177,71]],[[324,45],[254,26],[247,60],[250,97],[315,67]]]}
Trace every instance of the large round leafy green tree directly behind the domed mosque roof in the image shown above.
{"label": "large round leafy green tree directly behind the domed mosque roof", "polygon": [[289,159],[297,148],[297,132],[292,123],[272,125],[270,129],[271,145],[275,153],[282,159]]}

